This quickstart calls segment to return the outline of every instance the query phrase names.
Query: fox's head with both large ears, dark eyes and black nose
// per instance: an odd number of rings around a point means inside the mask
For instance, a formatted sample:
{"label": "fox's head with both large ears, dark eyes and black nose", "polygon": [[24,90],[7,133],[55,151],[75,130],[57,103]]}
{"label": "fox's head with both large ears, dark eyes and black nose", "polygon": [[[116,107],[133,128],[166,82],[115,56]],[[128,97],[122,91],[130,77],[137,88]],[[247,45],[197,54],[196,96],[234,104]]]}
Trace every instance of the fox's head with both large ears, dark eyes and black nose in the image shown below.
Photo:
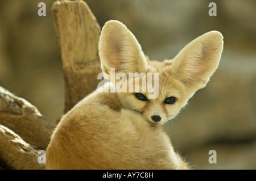
{"label": "fox's head with both large ears, dark eyes and black nose", "polygon": [[[220,60],[222,39],[220,32],[210,31],[189,43],[174,59],[150,61],[126,26],[110,20],[100,36],[101,68],[115,87],[122,88],[115,92],[123,108],[141,113],[154,125],[162,125],[174,118],[197,90],[207,85]],[[129,73],[140,76],[129,79]],[[143,82],[145,77],[147,81]],[[136,80],[139,80],[137,90]],[[129,89],[129,83],[134,89]]]}

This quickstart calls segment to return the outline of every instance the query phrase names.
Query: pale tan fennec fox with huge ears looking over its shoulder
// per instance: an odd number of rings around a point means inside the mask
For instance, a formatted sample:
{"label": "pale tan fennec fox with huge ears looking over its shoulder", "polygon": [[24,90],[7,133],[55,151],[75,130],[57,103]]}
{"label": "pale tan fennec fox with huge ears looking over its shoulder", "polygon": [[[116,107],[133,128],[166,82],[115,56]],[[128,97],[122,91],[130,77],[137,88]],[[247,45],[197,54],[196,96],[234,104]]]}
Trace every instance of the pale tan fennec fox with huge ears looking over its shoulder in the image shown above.
{"label": "pale tan fennec fox with huge ears looking over its shoulder", "polygon": [[[218,66],[222,39],[220,32],[211,31],[172,60],[150,61],[124,24],[106,22],[99,50],[102,71],[110,81],[63,116],[46,151],[47,169],[189,169],[160,125],[205,87]],[[126,79],[129,73],[139,76]],[[126,83],[135,87],[136,80],[142,85],[131,91]],[[149,99],[151,92],[159,94]]]}

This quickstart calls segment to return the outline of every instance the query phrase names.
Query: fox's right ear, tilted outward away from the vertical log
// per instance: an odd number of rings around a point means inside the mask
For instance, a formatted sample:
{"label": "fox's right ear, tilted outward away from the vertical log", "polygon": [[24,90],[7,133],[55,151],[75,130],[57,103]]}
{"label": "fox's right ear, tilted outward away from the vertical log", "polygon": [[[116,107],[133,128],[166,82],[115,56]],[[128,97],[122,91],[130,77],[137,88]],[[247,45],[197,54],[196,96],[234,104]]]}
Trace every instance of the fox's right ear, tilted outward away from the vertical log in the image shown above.
{"label": "fox's right ear, tilted outward away from the vertical log", "polygon": [[205,87],[217,69],[223,48],[223,37],[210,31],[197,37],[183,48],[174,59],[171,73],[183,82],[191,93]]}

